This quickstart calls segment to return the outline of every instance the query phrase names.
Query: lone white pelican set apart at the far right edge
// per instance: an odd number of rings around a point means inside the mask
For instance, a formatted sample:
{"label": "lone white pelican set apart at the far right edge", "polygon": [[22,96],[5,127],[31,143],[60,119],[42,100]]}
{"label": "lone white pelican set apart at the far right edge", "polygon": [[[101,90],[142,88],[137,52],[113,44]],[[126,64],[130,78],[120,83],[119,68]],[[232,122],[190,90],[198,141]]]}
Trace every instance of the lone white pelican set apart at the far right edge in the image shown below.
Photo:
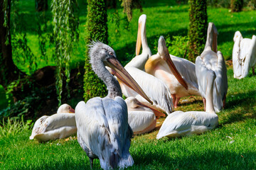
{"label": "lone white pelican set apart at the far right edge", "polygon": [[240,31],[235,32],[233,38],[235,44],[233,47],[233,72],[235,79],[247,77],[252,68],[252,74],[255,74],[256,66],[256,36],[252,39],[242,38]]}

